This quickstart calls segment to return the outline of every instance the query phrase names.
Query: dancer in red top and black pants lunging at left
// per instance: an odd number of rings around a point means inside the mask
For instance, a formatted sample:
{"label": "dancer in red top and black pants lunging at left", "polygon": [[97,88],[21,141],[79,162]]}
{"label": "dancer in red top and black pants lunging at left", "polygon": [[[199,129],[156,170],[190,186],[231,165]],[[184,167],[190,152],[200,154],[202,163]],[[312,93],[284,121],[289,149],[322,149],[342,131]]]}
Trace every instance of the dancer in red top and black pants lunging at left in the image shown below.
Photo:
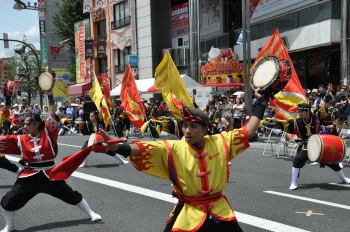
{"label": "dancer in red top and black pants lunging at left", "polygon": [[22,208],[38,193],[46,193],[82,209],[92,221],[100,221],[82,195],[73,191],[64,181],[50,181],[49,173],[55,167],[59,117],[56,105],[49,95],[50,116],[42,121],[34,114],[24,121],[25,135],[0,136],[0,152],[21,155],[25,169],[19,174],[13,188],[1,200],[6,227],[1,232],[14,230],[15,211]]}

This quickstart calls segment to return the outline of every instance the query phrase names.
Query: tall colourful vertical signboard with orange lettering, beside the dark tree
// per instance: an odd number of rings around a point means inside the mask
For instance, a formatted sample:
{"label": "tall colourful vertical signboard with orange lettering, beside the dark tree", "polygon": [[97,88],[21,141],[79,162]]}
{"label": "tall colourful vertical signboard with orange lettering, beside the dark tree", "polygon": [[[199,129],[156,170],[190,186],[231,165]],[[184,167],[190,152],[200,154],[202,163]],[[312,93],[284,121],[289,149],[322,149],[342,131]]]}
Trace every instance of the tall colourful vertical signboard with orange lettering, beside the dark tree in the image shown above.
{"label": "tall colourful vertical signboard with orange lettering, beside the dark tree", "polygon": [[85,57],[85,40],[90,38],[89,19],[82,20],[74,24],[75,50],[76,54],[76,83],[84,83],[86,79],[86,57]]}

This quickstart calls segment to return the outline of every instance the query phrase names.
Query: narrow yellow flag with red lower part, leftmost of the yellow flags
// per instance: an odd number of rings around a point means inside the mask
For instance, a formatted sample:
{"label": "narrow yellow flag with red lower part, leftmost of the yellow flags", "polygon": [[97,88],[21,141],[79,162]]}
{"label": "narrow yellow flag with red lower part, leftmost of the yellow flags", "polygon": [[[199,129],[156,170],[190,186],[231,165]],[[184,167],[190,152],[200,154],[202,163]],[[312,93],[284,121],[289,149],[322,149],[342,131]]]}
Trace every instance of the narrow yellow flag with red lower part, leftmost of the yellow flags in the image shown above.
{"label": "narrow yellow flag with red lower part, leftmost of the yellow flags", "polygon": [[94,73],[94,83],[92,85],[92,88],[90,89],[89,96],[93,100],[93,102],[95,103],[98,111],[100,111],[100,109],[101,109],[100,104],[102,103],[102,110],[101,110],[102,117],[103,117],[103,121],[107,127],[109,125],[109,121],[111,120],[111,115],[109,113],[106,100],[104,99],[100,84],[98,83],[98,80],[97,80],[95,73]]}

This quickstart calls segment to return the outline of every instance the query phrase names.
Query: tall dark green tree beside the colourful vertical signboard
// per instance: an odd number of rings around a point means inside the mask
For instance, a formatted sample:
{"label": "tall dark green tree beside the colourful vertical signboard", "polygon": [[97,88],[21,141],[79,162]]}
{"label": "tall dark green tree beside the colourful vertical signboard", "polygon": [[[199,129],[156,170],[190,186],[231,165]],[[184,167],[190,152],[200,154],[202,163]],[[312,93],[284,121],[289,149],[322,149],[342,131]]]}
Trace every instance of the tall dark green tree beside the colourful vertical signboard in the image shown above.
{"label": "tall dark green tree beside the colourful vertical signboard", "polygon": [[76,81],[75,63],[75,38],[74,23],[90,17],[89,13],[83,13],[83,0],[61,0],[55,2],[58,11],[52,16],[53,32],[59,35],[62,40],[68,40],[71,53],[68,65],[69,81]]}

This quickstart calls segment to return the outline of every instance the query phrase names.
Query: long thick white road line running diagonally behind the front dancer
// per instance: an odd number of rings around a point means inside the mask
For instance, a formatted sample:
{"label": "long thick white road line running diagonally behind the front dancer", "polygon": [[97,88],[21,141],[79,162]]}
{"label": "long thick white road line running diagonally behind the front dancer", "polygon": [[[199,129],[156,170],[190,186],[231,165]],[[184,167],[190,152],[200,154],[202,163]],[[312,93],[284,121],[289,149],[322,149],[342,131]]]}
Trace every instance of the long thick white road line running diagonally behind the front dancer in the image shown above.
{"label": "long thick white road line running diagonally behind the front dancer", "polygon": [[[9,155],[6,155],[6,158],[11,160],[11,161],[15,161],[15,162],[19,161],[19,158],[9,156]],[[125,184],[122,182],[109,180],[109,179],[102,178],[102,177],[97,177],[97,176],[93,176],[93,175],[89,175],[89,174],[85,174],[85,173],[81,173],[81,172],[73,172],[72,176],[74,176],[76,178],[83,179],[83,180],[95,182],[98,184],[104,184],[104,185],[114,187],[117,189],[122,189],[122,190],[125,190],[128,192],[133,192],[133,193],[140,194],[143,196],[152,197],[152,198],[155,198],[155,199],[158,199],[161,201],[165,201],[165,202],[169,202],[172,204],[175,204],[177,202],[177,199],[173,198],[173,196],[170,194],[165,194],[165,193],[157,192],[157,191],[142,188],[142,187],[138,187],[138,186],[134,186],[134,185],[130,185],[130,184]],[[303,230],[303,229],[288,226],[288,225],[285,225],[282,223],[274,222],[271,220],[251,216],[251,215],[248,215],[245,213],[240,213],[237,211],[235,211],[235,215],[240,223],[245,223],[247,225],[262,228],[262,229],[265,229],[268,231],[308,232],[307,230]]]}

